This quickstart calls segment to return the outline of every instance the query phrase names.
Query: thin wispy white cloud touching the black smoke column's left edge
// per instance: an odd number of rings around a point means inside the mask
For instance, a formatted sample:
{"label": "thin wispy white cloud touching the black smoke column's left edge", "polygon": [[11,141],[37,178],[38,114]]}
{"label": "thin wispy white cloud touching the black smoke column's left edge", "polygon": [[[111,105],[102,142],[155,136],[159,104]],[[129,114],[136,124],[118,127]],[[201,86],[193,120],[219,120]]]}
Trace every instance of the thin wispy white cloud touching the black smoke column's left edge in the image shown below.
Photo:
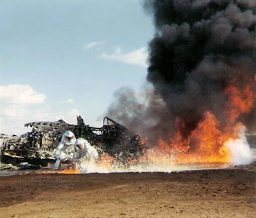
{"label": "thin wispy white cloud touching the black smoke column's left edge", "polygon": [[120,61],[127,64],[135,64],[139,65],[141,67],[147,67],[147,56],[148,53],[146,52],[146,48],[142,47],[137,50],[133,50],[128,53],[122,53],[122,50],[120,47],[116,47],[113,54],[106,54],[105,52],[102,52],[101,57],[108,60],[114,60],[114,61]]}

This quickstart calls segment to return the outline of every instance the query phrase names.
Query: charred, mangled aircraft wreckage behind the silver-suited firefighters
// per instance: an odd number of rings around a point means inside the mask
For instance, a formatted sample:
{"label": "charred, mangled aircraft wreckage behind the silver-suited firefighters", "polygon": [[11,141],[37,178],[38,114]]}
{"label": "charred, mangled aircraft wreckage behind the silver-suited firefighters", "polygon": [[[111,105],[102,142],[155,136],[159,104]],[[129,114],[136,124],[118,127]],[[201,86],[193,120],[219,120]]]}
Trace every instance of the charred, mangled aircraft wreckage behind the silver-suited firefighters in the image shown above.
{"label": "charred, mangled aircraft wreckage behind the silver-suited firefighters", "polygon": [[33,165],[46,166],[55,162],[54,151],[62,134],[70,130],[76,138],[83,137],[95,146],[99,156],[108,154],[117,162],[125,164],[146,154],[145,140],[129,131],[109,117],[103,119],[102,127],[85,125],[81,116],[77,117],[77,125],[63,120],[55,122],[30,122],[25,127],[32,127],[31,132],[20,136],[1,134],[1,162],[18,165],[27,162]]}

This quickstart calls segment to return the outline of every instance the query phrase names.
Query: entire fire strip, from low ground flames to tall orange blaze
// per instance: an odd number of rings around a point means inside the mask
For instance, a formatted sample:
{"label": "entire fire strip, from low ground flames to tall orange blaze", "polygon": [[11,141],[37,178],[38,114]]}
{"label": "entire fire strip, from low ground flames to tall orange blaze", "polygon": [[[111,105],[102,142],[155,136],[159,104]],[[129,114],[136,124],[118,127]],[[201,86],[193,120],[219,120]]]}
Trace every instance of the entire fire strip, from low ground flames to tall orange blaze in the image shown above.
{"label": "entire fire strip, from low ground flames to tall orange blaze", "polygon": [[249,149],[245,147],[248,145],[243,143],[244,138],[241,136],[241,131],[244,131],[245,127],[242,122],[239,122],[239,117],[241,114],[250,113],[253,109],[254,93],[252,90],[252,84],[240,89],[235,85],[227,87],[225,90],[227,98],[225,121],[220,122],[215,114],[206,111],[203,113],[203,119],[186,138],[182,136],[177,118],[174,135],[170,133],[167,139],[165,137],[165,140],[159,138],[157,145],[148,149],[146,156],[140,157],[140,164],[134,164],[137,160],[133,159],[122,165],[115,158],[103,154],[96,162],[85,162],[84,165],[80,165],[79,169],[82,171],[66,169],[38,173],[171,172],[175,169],[190,169],[192,165],[196,166],[196,164],[199,164],[197,166],[208,167],[220,167],[227,163],[233,164],[234,162],[231,160],[237,154],[237,152],[233,152],[235,147],[242,146],[242,148],[237,149],[239,152]]}

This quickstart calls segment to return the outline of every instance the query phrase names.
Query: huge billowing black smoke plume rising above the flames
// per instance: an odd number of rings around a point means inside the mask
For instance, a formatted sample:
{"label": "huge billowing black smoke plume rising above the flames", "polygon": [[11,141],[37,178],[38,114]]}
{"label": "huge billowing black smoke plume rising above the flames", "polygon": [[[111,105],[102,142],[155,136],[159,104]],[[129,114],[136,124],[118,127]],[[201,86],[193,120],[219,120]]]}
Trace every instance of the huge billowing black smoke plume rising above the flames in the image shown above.
{"label": "huge billowing black smoke plume rising above the flames", "polygon": [[109,114],[119,121],[124,115],[124,124],[152,143],[169,134],[176,118],[184,137],[205,111],[224,125],[225,88],[254,79],[256,0],[146,0],[144,7],[155,24],[147,69],[154,91],[146,91],[144,104],[132,98],[136,106],[128,111],[129,100],[123,102],[131,95],[120,92]]}

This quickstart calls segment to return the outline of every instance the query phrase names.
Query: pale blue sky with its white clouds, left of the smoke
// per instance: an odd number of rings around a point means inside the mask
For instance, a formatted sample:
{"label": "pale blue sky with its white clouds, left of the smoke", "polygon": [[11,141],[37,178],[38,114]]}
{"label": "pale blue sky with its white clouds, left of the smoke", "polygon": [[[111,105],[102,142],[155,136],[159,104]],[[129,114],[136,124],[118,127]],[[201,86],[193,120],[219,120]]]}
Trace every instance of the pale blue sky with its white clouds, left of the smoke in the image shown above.
{"label": "pale blue sky with its white clouds, left of the smoke", "polygon": [[121,87],[146,83],[152,17],[141,0],[2,0],[1,132],[80,114],[90,125]]}

